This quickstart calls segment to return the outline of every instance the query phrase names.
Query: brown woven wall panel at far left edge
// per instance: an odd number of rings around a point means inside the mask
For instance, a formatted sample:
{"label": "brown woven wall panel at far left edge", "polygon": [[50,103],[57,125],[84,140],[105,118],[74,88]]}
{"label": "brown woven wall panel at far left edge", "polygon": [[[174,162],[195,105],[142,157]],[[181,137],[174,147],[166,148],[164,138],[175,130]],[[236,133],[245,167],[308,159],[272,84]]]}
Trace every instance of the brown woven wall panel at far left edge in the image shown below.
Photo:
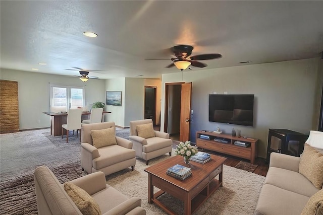
{"label": "brown woven wall panel at far left edge", "polygon": [[0,133],[19,131],[18,82],[0,80]]}

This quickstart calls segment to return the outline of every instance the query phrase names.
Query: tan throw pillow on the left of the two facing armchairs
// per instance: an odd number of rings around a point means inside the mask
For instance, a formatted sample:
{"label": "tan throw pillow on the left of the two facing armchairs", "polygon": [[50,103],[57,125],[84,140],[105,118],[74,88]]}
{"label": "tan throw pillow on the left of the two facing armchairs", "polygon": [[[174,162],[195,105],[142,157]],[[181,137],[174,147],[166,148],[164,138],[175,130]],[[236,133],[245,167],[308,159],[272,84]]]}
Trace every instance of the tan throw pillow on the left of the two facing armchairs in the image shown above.
{"label": "tan throw pillow on the left of the two facing armchairs", "polygon": [[96,149],[111,145],[117,145],[116,131],[114,127],[101,130],[91,130],[91,136],[93,146]]}

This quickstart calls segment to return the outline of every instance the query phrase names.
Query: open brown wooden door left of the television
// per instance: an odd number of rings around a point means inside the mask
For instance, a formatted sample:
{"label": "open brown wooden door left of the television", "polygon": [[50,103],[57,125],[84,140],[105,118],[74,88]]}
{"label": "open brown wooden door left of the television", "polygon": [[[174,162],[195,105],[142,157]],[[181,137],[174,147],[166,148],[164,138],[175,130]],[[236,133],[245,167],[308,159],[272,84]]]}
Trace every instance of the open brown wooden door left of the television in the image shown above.
{"label": "open brown wooden door left of the television", "polygon": [[192,82],[182,84],[180,141],[190,139]]}

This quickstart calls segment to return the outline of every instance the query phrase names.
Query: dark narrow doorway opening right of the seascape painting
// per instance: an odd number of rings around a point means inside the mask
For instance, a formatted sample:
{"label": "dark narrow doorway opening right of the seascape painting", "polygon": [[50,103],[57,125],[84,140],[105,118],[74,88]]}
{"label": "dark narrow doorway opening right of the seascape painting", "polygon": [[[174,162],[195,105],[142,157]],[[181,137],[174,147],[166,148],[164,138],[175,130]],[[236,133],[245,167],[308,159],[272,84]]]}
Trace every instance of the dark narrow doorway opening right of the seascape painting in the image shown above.
{"label": "dark narrow doorway opening right of the seascape painting", "polygon": [[156,125],[156,96],[157,87],[145,86],[144,119],[152,119],[153,125]]}

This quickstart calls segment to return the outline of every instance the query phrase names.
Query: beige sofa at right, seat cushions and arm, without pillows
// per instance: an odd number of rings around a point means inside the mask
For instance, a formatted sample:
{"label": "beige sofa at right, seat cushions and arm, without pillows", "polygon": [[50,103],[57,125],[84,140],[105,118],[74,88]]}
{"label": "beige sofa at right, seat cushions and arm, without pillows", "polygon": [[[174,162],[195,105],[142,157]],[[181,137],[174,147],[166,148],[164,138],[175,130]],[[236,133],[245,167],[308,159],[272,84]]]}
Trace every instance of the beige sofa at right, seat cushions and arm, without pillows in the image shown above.
{"label": "beige sofa at right, seat cushions and arm, without pillows", "polygon": [[255,215],[301,214],[309,198],[318,191],[298,173],[300,158],[272,153]]}

